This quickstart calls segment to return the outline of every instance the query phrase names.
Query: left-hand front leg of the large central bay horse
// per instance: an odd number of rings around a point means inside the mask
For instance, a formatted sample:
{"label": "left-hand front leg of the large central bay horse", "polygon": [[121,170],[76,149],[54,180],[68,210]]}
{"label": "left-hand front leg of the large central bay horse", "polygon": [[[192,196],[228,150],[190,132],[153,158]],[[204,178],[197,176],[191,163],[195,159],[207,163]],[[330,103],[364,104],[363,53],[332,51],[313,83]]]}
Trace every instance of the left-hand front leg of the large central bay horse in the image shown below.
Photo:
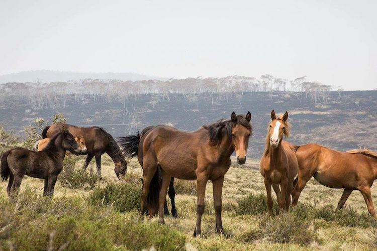
{"label": "left-hand front leg of the large central bay horse", "polygon": [[197,174],[197,191],[198,191],[198,202],[197,202],[197,225],[194,230],[194,237],[200,237],[202,233],[201,223],[202,214],[204,213],[204,196],[206,194],[206,185],[208,177],[205,172]]}

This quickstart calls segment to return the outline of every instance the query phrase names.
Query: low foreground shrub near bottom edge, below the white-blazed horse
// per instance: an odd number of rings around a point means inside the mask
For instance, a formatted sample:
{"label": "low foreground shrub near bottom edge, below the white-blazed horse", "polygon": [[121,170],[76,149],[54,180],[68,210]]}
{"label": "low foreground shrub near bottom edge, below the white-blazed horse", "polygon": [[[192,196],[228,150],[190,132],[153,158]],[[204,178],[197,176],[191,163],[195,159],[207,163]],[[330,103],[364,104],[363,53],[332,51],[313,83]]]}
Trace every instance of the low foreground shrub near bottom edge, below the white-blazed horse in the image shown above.
{"label": "low foreground shrub near bottom edge, below the white-blazed horse", "polygon": [[311,222],[291,213],[282,213],[274,217],[266,215],[257,228],[251,229],[243,237],[246,242],[263,239],[270,243],[309,245],[318,239]]}

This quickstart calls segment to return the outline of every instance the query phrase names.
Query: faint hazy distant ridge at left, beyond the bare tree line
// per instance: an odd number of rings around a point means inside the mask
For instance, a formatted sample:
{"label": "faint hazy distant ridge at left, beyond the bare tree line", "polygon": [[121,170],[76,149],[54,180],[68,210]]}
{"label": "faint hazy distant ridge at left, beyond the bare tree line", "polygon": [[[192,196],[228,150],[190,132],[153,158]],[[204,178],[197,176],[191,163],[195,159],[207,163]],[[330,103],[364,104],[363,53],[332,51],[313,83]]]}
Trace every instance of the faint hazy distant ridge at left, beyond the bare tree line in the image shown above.
{"label": "faint hazy distant ridge at left, beyond the bare tree line", "polygon": [[0,76],[0,84],[9,82],[67,82],[78,81],[81,79],[117,79],[122,81],[139,81],[139,80],[167,80],[168,78],[149,76],[131,72],[105,72],[105,73],[90,73],[90,72],[70,72],[70,71],[51,71],[51,70],[35,70],[23,71],[18,73],[11,73]]}

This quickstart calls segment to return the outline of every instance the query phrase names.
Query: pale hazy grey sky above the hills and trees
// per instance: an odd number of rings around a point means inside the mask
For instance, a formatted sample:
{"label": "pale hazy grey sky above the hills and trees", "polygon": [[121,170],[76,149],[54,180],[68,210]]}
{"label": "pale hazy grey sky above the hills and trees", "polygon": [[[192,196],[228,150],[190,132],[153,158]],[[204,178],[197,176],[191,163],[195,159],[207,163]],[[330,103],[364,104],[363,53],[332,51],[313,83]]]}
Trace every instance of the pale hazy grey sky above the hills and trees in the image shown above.
{"label": "pale hazy grey sky above the hills and trees", "polygon": [[[331,3],[330,3],[331,2]],[[272,74],[377,88],[377,1],[0,2],[0,75]]]}

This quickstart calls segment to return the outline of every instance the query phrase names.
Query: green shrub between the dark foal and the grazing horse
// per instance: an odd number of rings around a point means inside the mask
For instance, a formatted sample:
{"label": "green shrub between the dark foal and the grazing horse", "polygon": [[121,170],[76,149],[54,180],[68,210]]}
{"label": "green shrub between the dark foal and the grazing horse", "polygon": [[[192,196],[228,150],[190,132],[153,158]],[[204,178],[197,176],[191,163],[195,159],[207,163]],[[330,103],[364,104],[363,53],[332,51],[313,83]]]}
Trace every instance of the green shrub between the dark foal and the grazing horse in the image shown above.
{"label": "green shrub between the dark foal and the grazing horse", "polygon": [[64,158],[64,167],[58,179],[63,187],[84,190],[95,188],[99,181],[98,175],[91,168],[88,171],[76,168],[76,158],[74,156]]}

